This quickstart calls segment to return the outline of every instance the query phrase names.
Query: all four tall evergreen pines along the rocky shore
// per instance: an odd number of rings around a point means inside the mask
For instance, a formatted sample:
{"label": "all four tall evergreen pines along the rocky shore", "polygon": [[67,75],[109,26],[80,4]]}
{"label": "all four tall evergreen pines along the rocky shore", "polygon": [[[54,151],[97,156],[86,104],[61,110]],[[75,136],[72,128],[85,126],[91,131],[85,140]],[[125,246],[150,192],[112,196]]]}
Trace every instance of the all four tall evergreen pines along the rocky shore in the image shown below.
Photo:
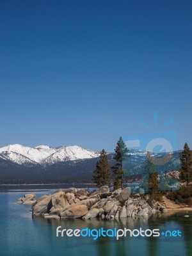
{"label": "all four tall evergreen pines along the rocky shore", "polygon": [[[127,160],[130,156],[129,150],[121,137],[116,144],[115,155],[113,156],[115,164],[113,166],[108,162],[107,152],[102,149],[92,177],[97,187],[113,184],[113,189],[123,189],[123,161]],[[192,182],[192,157],[187,143],[185,143],[184,150],[182,150],[180,163],[180,181],[186,182],[187,186],[189,186],[190,182]],[[150,201],[160,200],[159,188],[162,190],[166,189],[164,180],[164,177],[161,177],[160,183],[158,182],[156,165],[153,162],[151,154],[147,152],[147,158],[143,163],[143,183],[141,184],[141,188],[148,193]]]}

